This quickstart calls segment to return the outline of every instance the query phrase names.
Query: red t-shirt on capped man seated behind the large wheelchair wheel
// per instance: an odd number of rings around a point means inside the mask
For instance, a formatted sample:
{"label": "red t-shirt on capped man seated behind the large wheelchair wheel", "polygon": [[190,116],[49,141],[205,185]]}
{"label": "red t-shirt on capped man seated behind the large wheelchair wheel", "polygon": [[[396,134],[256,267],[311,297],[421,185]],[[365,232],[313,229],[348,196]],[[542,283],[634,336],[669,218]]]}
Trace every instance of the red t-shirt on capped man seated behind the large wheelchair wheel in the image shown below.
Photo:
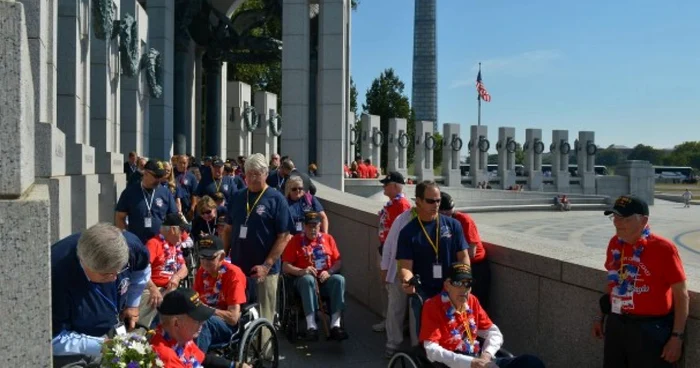
{"label": "red t-shirt on capped man seated behind the large wheelchair wheel", "polygon": [[[194,277],[194,291],[199,293],[202,303],[217,309],[226,310],[229,306],[244,304],[247,279],[243,271],[228,261],[224,261],[221,267],[223,270],[219,271],[218,278],[209,275],[204,268],[199,267]],[[219,278],[220,291],[216,295]]]}

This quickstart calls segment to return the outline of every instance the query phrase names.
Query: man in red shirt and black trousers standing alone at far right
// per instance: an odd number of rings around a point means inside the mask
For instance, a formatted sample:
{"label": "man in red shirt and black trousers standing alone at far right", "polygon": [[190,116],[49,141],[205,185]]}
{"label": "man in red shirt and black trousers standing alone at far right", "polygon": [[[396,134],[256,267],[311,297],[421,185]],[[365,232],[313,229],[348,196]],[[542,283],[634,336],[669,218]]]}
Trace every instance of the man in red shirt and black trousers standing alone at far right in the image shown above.
{"label": "man in red shirt and black trousers standing alone at far right", "polygon": [[678,250],[651,232],[649,206],[641,198],[621,196],[605,215],[616,234],[606,252],[608,294],[593,324],[593,334],[605,339],[603,366],[673,367],[681,356],[689,307]]}

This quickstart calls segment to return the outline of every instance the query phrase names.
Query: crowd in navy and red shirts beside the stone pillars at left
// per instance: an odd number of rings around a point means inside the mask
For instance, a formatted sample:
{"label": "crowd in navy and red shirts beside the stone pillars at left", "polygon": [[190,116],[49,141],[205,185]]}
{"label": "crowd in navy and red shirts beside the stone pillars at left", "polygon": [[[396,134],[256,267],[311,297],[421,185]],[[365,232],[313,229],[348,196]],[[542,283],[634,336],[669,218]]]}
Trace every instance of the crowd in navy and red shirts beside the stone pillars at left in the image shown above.
{"label": "crowd in navy and red shirts beside the stone pillars at left", "polygon": [[[253,154],[225,170],[229,163],[205,158],[197,179],[187,156],[131,156],[114,224],[51,247],[54,366],[99,361],[110,336],[144,329],[166,368],[247,367],[217,349],[238,331],[247,303],[274,321],[283,270],[303,302],[306,337],[318,339],[316,318],[324,318],[318,288],[330,300],[329,338],[348,338],[340,253],[316,188],[291,159]],[[181,287],[188,276],[192,289]]]}

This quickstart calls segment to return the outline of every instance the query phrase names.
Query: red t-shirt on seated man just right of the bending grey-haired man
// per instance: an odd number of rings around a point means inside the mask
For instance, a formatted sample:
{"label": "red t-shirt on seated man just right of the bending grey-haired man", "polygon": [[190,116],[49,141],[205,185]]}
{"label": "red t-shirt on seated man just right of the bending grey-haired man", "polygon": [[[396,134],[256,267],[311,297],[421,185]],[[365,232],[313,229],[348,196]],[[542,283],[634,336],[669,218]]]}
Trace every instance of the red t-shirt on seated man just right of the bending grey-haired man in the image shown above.
{"label": "red t-shirt on seated man just right of the bending grey-haired man", "polygon": [[146,248],[150,254],[151,281],[158,287],[168,286],[168,281],[185,264],[182,249],[179,245],[168,244],[162,235],[156,235],[147,241]]}

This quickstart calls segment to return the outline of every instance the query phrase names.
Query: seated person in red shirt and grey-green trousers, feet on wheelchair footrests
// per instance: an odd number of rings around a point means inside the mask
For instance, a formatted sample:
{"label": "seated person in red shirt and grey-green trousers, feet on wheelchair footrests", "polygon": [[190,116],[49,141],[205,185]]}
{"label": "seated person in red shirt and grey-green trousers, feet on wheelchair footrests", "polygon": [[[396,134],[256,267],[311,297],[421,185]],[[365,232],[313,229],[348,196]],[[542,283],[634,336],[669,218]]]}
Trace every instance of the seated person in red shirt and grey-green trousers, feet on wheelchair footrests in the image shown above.
{"label": "seated person in red shirt and grey-green trousers, feet on wheelchair footrests", "polygon": [[319,309],[317,296],[320,294],[321,297],[330,298],[330,337],[340,341],[348,338],[340,326],[340,316],[345,309],[345,278],[338,274],[342,263],[335,240],[330,234],[321,232],[320,224],[319,213],[306,213],[304,232],[295,235],[282,253],[282,270],[296,277],[294,286],[301,297],[306,316],[306,338],[318,340],[316,311]]}

